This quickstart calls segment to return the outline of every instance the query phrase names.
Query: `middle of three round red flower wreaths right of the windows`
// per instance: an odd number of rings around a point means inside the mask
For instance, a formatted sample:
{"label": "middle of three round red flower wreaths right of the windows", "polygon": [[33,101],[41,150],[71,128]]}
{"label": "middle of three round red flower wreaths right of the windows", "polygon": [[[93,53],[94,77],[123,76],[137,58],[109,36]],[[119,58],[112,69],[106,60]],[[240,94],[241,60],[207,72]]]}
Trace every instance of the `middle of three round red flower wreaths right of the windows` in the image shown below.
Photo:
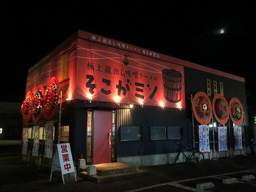
{"label": "middle of three round red flower wreaths right of the windows", "polygon": [[228,102],[221,94],[214,95],[212,99],[212,112],[220,124],[226,124],[229,118]]}

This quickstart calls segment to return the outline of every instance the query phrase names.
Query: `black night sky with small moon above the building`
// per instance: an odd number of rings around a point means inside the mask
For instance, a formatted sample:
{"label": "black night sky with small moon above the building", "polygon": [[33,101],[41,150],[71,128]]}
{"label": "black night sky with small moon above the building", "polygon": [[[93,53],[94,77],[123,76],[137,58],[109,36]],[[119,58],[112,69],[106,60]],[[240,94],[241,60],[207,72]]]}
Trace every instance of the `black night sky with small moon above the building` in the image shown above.
{"label": "black night sky with small moon above the building", "polygon": [[244,77],[253,90],[256,1],[177,2],[1,3],[0,102],[23,102],[28,68],[77,29]]}

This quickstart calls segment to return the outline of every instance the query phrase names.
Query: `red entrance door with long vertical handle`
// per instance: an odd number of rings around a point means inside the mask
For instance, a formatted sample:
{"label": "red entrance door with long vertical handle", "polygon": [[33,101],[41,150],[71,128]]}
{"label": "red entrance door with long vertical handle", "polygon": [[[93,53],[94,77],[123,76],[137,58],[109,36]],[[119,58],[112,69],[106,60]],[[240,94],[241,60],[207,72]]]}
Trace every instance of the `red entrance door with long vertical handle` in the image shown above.
{"label": "red entrance door with long vertical handle", "polygon": [[93,164],[111,163],[112,111],[93,114]]}

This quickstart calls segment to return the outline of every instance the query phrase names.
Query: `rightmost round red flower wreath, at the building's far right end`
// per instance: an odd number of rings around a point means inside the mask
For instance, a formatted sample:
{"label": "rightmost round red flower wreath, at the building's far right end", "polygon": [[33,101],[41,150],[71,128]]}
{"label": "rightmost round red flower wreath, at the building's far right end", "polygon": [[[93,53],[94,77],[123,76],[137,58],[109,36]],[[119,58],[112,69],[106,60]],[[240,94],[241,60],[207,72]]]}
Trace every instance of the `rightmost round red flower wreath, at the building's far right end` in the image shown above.
{"label": "rightmost round red flower wreath, at the building's far right end", "polygon": [[243,111],[243,105],[237,99],[236,97],[233,97],[230,99],[229,102],[229,109],[230,109],[230,118],[232,122],[236,125],[243,124],[244,120],[244,111]]}

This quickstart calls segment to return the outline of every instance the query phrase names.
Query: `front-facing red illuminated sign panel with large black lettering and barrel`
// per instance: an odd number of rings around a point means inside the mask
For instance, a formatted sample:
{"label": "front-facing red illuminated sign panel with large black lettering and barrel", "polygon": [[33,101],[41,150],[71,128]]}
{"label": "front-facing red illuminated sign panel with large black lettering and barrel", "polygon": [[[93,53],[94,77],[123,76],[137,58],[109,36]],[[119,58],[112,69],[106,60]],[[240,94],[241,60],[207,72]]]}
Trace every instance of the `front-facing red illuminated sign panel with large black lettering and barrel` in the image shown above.
{"label": "front-facing red illuminated sign panel with large black lettering and barrel", "polygon": [[88,47],[81,42],[77,59],[79,99],[185,108],[182,66],[105,45]]}

